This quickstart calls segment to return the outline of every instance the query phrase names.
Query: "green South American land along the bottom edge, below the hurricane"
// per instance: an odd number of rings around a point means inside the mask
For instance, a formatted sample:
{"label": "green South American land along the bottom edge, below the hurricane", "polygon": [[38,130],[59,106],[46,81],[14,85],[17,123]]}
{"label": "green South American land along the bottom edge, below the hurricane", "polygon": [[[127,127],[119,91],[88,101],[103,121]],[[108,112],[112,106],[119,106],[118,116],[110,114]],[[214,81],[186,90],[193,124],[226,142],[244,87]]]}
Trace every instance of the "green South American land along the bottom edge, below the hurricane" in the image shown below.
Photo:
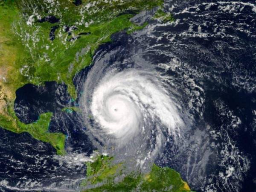
{"label": "green South American land along the bottom edge, below the hurricane", "polygon": [[[87,162],[87,179],[82,186],[91,186],[83,192],[192,192],[175,170],[153,164],[146,174],[133,172],[122,177],[122,163],[113,164],[113,157],[98,156]],[[116,178],[120,177],[120,180]]]}

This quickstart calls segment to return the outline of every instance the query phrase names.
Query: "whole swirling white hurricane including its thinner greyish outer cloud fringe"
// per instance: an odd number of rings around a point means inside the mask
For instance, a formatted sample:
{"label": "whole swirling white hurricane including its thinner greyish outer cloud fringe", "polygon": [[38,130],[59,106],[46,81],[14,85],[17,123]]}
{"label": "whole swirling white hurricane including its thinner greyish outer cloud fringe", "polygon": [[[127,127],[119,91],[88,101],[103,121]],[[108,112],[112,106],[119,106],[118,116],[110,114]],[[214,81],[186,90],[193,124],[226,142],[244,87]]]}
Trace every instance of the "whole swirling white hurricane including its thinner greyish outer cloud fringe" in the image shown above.
{"label": "whole swirling white hurricane including its thinner greyish outer cloud fringe", "polygon": [[[99,73],[99,69],[89,76]],[[175,97],[178,93],[168,91],[168,85],[156,73],[110,69],[97,82],[94,80],[85,81],[80,105],[90,132],[104,145],[111,143],[131,156],[147,151],[137,159],[143,166],[145,160],[156,157],[170,137],[174,143],[179,142],[186,123]],[[90,86],[94,88],[88,91]]]}

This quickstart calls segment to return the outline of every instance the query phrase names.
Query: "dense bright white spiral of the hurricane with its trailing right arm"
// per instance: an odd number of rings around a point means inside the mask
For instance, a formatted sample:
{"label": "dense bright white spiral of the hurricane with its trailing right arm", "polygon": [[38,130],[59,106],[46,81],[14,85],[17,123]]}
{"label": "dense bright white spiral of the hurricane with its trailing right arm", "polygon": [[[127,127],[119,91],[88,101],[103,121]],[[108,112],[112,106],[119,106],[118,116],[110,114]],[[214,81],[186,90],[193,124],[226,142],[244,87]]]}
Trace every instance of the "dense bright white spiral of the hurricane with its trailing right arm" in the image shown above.
{"label": "dense bright white spiral of the hurricane with its trailing right arm", "polygon": [[122,142],[160,123],[176,136],[183,121],[164,87],[151,73],[125,70],[106,75],[92,94],[95,121],[106,134]]}

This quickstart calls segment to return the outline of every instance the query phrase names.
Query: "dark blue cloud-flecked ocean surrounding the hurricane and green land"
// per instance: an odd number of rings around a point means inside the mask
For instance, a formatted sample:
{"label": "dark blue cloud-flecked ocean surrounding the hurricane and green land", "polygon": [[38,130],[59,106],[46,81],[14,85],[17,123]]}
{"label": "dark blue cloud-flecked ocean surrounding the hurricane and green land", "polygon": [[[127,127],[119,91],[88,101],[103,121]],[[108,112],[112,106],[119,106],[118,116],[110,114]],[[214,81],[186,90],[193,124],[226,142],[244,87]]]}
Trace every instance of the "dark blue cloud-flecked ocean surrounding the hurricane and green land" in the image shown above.
{"label": "dark blue cloud-flecked ocean surrounding the hurricane and green land", "polygon": [[[83,84],[92,67],[143,69],[153,66],[181,95],[193,119],[181,146],[172,138],[155,160],[169,166],[198,192],[256,191],[256,5],[255,1],[166,0],[173,23],[149,20],[142,31],[113,35],[93,64],[74,77],[79,97],[73,101],[64,84],[27,84],[17,90],[15,112],[25,123],[52,112],[50,132],[67,135],[67,160],[55,157],[51,145],[0,129],[2,191],[72,191],[86,174],[83,163],[70,166],[78,154],[95,146],[79,112]],[[81,106],[80,106],[81,107]],[[100,143],[100,141],[99,141]],[[175,152],[176,151],[176,152]],[[85,155],[85,156],[86,156]]]}

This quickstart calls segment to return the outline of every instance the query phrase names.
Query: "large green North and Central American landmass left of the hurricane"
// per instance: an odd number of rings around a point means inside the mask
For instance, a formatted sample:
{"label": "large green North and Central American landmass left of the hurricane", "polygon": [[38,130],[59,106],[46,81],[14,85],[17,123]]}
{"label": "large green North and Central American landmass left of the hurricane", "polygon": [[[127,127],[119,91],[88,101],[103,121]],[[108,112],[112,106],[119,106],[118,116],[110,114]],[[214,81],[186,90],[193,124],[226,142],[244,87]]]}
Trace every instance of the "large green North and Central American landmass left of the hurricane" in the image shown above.
{"label": "large green North and Central American landmass left of the hurricane", "polygon": [[[138,26],[130,18],[162,4],[163,0],[82,0],[76,6],[72,0],[1,0],[0,127],[26,131],[64,154],[64,134],[48,133],[44,123],[25,126],[15,116],[15,91],[28,83],[42,86],[56,81],[67,84],[76,99],[73,77],[90,65],[96,49],[112,41],[116,32],[143,29],[147,23]],[[58,22],[50,22],[47,16]],[[50,38],[54,27],[55,38]],[[34,128],[27,129],[30,125]]]}

